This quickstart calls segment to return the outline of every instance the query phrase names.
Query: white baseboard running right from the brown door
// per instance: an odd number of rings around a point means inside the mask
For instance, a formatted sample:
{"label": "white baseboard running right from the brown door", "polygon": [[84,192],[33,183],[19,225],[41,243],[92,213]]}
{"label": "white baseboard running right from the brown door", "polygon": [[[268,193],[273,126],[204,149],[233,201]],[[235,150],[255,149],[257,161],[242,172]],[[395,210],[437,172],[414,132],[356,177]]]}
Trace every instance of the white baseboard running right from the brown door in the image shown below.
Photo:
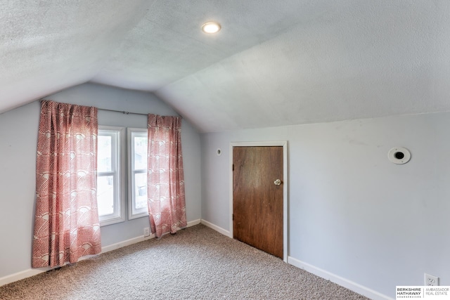
{"label": "white baseboard running right from the brown door", "polygon": [[361,294],[363,296],[366,296],[369,299],[373,300],[393,300],[393,298],[390,298],[384,294],[381,294],[379,292],[374,291],[373,289],[369,289],[368,287],[364,287],[362,285],[359,285],[356,282],[353,282],[351,280],[342,278],[338,275],[335,275],[333,273],[330,273],[326,270],[322,270],[321,268],[317,268],[316,266],[312,266],[309,263],[305,263],[303,261],[299,261],[298,259],[294,259],[291,256],[288,256],[288,263],[290,265],[296,266],[297,268],[301,268],[303,270],[306,270],[309,273],[313,273],[314,275],[317,275],[323,279],[330,280],[331,282],[335,282],[336,284],[346,287],[347,289],[356,292],[358,294]]}

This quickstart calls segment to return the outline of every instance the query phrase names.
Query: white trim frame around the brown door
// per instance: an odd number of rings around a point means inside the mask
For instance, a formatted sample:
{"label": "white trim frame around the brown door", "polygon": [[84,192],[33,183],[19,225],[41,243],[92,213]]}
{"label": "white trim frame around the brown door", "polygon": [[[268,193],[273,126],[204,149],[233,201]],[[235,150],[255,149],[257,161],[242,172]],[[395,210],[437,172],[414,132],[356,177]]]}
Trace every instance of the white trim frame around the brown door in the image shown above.
{"label": "white trim frame around the brown door", "polygon": [[283,261],[288,262],[288,141],[231,142],[230,143],[230,237],[233,238],[233,147],[283,147]]}

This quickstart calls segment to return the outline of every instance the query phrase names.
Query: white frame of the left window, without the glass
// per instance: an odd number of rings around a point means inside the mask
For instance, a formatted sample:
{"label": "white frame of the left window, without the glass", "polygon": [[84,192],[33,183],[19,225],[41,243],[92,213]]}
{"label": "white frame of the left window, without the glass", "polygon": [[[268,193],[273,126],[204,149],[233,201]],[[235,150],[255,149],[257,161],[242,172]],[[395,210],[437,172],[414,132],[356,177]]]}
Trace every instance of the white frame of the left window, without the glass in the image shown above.
{"label": "white frame of the left window, without the glass", "polygon": [[[105,126],[98,125],[98,136],[112,136],[112,167],[115,167],[114,171],[99,172],[97,170],[96,178],[98,176],[113,176],[114,181],[114,212],[105,216],[98,216],[100,226],[108,226],[115,223],[121,223],[125,221],[125,197],[124,197],[124,136],[125,127],[123,126]],[[101,134],[103,133],[103,134]],[[98,164],[97,153],[97,164]],[[97,166],[98,167],[98,166]],[[113,168],[112,168],[113,169]]]}

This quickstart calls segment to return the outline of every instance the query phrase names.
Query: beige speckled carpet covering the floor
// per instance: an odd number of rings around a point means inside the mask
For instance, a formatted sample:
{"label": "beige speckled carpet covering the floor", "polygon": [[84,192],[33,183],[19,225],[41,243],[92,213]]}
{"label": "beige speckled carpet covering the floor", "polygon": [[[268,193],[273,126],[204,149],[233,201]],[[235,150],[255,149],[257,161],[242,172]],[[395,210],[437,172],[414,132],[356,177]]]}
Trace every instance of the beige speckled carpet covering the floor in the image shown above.
{"label": "beige speckled carpet covering the floor", "polygon": [[203,225],[0,287],[0,299],[367,299]]}

